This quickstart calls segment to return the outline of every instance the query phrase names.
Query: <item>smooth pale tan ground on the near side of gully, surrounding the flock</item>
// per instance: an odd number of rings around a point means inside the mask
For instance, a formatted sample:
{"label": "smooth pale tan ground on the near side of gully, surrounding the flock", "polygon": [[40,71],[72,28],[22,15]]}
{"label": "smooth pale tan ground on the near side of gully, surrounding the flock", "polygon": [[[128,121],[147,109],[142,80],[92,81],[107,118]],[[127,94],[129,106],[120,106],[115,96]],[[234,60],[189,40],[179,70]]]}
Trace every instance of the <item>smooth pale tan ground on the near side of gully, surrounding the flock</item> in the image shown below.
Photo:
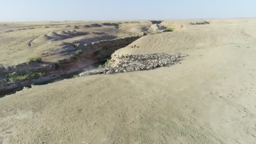
{"label": "smooth pale tan ground on the near side of gully, surrounding the flock", "polygon": [[1,98],[0,143],[255,144],[255,24],[184,24],[116,52],[188,53],[181,64],[62,80]]}

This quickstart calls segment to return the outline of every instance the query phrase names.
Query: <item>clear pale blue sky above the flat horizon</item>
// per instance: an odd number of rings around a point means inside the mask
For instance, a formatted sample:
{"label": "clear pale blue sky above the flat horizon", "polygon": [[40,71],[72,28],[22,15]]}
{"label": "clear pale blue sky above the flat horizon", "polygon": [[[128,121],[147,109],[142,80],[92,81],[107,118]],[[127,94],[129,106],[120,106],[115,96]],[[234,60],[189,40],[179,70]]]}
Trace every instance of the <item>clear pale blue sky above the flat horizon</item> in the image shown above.
{"label": "clear pale blue sky above the flat horizon", "polygon": [[0,0],[0,21],[256,17],[256,0]]}

